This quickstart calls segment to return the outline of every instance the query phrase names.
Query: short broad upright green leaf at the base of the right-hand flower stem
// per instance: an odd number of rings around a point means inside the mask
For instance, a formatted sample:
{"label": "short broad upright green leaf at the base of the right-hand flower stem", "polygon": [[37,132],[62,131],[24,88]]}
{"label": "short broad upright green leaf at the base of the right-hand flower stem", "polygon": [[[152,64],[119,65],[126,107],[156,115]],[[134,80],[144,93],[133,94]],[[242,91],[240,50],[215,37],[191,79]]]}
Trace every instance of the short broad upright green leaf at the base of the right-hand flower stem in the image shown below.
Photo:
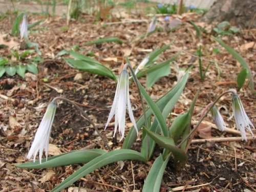
{"label": "short broad upright green leaf at the base of the right-hand flower stem", "polygon": [[174,139],[174,142],[176,143],[178,139],[180,138],[181,134],[184,132],[187,124],[189,123],[189,113],[185,113],[182,115],[179,115],[174,119],[174,122],[170,126],[170,138]]}

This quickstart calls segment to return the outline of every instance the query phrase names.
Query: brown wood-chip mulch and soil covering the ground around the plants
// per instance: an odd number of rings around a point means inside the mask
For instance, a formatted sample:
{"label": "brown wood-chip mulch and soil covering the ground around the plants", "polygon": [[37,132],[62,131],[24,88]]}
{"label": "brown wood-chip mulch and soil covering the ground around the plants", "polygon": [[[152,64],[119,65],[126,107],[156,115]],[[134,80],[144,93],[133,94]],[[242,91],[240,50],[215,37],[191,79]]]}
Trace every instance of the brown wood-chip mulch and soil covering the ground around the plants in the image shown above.
{"label": "brown wood-chip mulch and soil covering the ground around the plants", "polygon": [[[9,34],[13,18],[13,15],[1,18],[0,34],[6,41],[14,39],[22,43],[19,37],[12,37]],[[103,22],[96,22],[96,17],[92,15],[82,15],[78,20],[71,20],[69,27],[65,27],[66,19],[58,16],[29,15],[28,18],[29,23],[45,19],[29,34],[30,41],[39,45],[44,61],[38,63],[38,75],[27,74],[26,78],[18,75],[13,77],[4,75],[0,79],[1,191],[49,191],[82,166],[82,164],[77,164],[28,170],[14,166],[16,163],[28,161],[26,156],[36,129],[46,111],[47,104],[56,96],[66,97],[80,103],[81,108],[86,111],[103,136],[109,141],[112,149],[115,150],[122,146],[122,141],[113,140],[113,129],[103,131],[115,94],[115,82],[108,77],[69,67],[60,56],[57,56],[63,49],[71,50],[73,46],[77,45],[81,54],[93,52],[95,60],[118,75],[127,50],[131,51],[129,59],[135,67],[149,53],[148,50],[153,51],[175,40],[159,58],[159,61],[163,61],[181,51],[176,61],[170,63],[171,74],[162,77],[152,88],[147,89],[147,92],[153,100],[156,100],[175,85],[179,76],[175,63],[180,69],[194,66],[189,72],[186,88],[172,114],[175,116],[186,112],[191,100],[201,88],[193,116],[193,120],[196,122],[200,118],[201,111],[209,102],[224,91],[237,89],[237,75],[242,70],[240,63],[210,38],[212,35],[210,29],[215,24],[206,25],[197,22],[200,16],[194,13],[185,13],[182,16],[173,15],[170,19],[182,18],[180,27],[169,33],[164,30],[158,31],[147,38],[138,40],[135,44],[131,44],[131,41],[146,32],[147,23],[143,20],[148,19],[150,21],[150,17],[130,15],[126,19],[141,19],[141,22],[132,23],[126,20],[122,24],[106,25],[105,27],[102,27]],[[164,16],[158,18],[158,25],[161,26]],[[208,30],[208,33],[202,33],[201,40],[196,36],[193,26],[186,22],[190,19],[193,19],[198,26],[203,26]],[[255,42],[255,35],[255,29],[252,29],[242,30],[232,36],[222,36],[223,41],[239,52],[247,61],[253,77],[255,76],[255,48],[249,47],[248,43]],[[96,40],[99,37],[110,36],[122,39],[123,44],[110,42],[100,45],[85,45],[86,42]],[[195,51],[200,45],[203,46],[204,52],[203,68],[205,69],[210,61],[216,61],[221,69],[220,79],[217,77],[215,65],[210,65],[205,80],[200,80],[198,58],[195,55]],[[220,53],[213,53],[213,48],[218,48]],[[13,49],[19,50],[19,47]],[[7,49],[0,49],[0,54],[6,56],[9,52]],[[74,80],[78,73],[82,74],[82,79]],[[43,78],[47,78],[48,82],[44,82]],[[139,80],[145,85],[145,77]],[[256,98],[247,85],[248,82],[239,91],[239,95],[248,117],[255,124]],[[138,119],[142,114],[142,108],[134,83],[131,84],[130,91],[134,115]],[[232,114],[231,96],[223,97],[217,105],[223,109],[226,107],[226,110],[223,111],[225,112],[223,114],[224,120],[227,127],[234,129],[234,119],[230,118]],[[205,120],[211,122],[211,117],[207,116]],[[128,118],[125,135],[131,126],[129,122]],[[210,123],[209,126],[210,137],[240,137],[238,134],[213,129],[214,127]],[[200,136],[198,133],[195,138],[200,139]],[[140,150],[141,139],[142,133],[139,134],[134,143],[133,149],[136,151]],[[50,156],[54,153],[66,153],[81,148],[104,149],[102,141],[90,128],[89,122],[80,116],[76,108],[64,101],[58,102],[50,143],[54,149],[53,152],[49,153]],[[169,161],[163,175],[160,191],[255,191],[254,146],[255,140],[191,144],[187,152],[188,161],[183,169],[175,170],[173,159],[171,158]],[[123,161],[123,166],[122,162],[103,166],[75,182],[72,185],[73,188],[69,187],[63,191],[141,191],[146,175],[161,152],[162,148],[157,146],[152,160],[146,163],[126,160]],[[41,180],[49,173],[53,174],[46,180]]]}

